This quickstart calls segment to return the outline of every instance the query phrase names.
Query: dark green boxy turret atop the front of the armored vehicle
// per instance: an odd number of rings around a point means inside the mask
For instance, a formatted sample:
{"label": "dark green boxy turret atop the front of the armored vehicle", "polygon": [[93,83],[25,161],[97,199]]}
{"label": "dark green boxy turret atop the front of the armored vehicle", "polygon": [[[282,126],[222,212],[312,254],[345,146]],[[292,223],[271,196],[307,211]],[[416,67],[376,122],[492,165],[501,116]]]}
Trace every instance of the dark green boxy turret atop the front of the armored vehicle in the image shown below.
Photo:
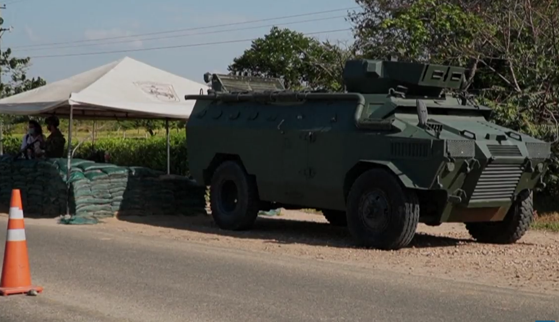
{"label": "dark green boxy turret atop the front of the armored vehicle", "polygon": [[458,90],[465,71],[456,66],[362,59],[345,62],[343,79],[349,92],[438,97],[444,89]]}

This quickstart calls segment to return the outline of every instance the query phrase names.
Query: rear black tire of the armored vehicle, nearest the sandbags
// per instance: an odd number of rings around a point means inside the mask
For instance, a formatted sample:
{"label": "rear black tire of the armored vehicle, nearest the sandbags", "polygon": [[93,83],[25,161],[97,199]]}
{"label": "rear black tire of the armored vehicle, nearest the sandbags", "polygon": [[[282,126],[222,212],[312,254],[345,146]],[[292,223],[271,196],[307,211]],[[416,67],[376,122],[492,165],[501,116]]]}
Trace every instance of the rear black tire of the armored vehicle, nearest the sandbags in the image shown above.
{"label": "rear black tire of the armored vehicle, nearest the sandbags", "polygon": [[223,230],[247,230],[258,216],[255,182],[238,162],[226,161],[217,167],[210,183],[211,214]]}

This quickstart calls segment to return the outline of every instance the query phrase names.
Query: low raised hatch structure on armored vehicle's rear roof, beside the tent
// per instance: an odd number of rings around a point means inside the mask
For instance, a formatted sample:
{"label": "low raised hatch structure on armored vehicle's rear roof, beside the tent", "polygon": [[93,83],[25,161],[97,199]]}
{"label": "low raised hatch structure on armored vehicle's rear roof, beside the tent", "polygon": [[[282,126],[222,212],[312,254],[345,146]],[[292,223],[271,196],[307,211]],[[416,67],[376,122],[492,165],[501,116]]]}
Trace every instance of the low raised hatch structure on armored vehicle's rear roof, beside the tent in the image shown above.
{"label": "low raised hatch structure on armored vehicle's rear roof, beside the tent", "polygon": [[282,91],[283,80],[235,74],[204,74],[204,81],[210,83],[214,92]]}

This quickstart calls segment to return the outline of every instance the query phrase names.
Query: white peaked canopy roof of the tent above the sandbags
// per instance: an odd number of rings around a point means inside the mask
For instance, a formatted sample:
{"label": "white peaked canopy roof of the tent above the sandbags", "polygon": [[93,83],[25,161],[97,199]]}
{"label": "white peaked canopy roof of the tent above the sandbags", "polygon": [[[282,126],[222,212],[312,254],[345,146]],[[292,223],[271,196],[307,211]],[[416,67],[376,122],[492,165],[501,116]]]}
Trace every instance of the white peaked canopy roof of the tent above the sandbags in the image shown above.
{"label": "white peaked canopy roof of the tent above the sandbags", "polygon": [[195,101],[184,95],[208,86],[130,57],[0,100],[0,114],[87,119],[187,119]]}

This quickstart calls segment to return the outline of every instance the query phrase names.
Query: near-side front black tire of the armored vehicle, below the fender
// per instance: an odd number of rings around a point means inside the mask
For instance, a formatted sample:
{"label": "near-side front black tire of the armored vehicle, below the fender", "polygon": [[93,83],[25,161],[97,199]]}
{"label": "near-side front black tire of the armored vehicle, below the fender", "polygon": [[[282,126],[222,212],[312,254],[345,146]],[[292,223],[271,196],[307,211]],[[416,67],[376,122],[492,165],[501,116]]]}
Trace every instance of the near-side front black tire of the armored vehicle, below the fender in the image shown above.
{"label": "near-side front black tire of the armored vehicle, below the fender", "polygon": [[[383,208],[383,212],[365,211],[363,208],[368,202],[374,202],[377,210]],[[374,225],[369,219],[380,220],[383,225]],[[419,222],[418,197],[414,191],[402,188],[385,170],[368,170],[357,178],[349,191],[347,222],[359,246],[385,250],[408,246]]]}

